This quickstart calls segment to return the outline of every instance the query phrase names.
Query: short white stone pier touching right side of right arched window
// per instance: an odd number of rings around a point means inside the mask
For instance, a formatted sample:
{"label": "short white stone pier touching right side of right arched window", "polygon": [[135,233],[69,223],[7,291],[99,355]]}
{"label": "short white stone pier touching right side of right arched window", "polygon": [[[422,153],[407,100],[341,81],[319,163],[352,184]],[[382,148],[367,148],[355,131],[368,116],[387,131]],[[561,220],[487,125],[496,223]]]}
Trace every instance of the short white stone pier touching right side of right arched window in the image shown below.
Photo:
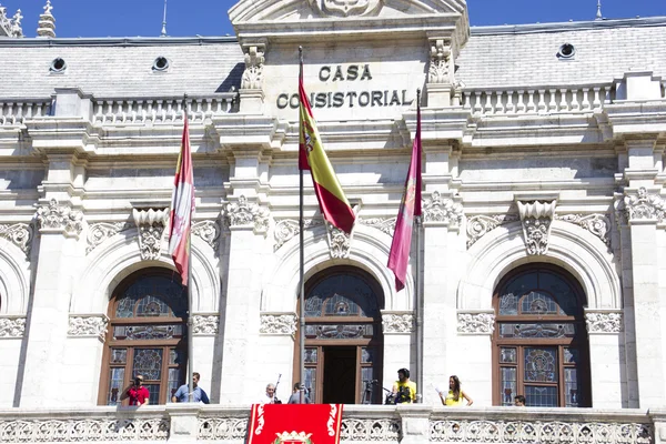
{"label": "short white stone pier touching right side of right arched window", "polygon": [[589,334],[589,372],[593,375],[592,405],[595,408],[622,408],[622,312],[586,310],[585,320]]}

